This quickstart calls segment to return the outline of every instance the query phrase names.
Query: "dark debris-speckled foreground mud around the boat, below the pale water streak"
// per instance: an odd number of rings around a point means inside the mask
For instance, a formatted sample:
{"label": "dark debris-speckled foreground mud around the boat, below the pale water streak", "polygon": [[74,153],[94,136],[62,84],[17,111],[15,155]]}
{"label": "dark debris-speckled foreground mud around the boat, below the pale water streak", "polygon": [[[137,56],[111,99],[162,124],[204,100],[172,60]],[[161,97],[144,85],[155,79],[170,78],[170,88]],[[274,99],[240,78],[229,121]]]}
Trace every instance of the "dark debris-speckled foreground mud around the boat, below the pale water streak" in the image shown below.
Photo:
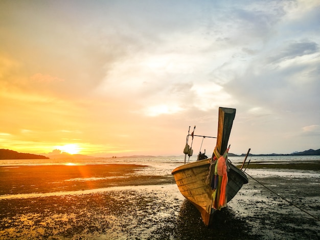
{"label": "dark debris-speckled foreground mud around the boat, below the pale water streak", "polygon": [[[110,178],[107,184],[141,185],[135,177]],[[209,228],[171,184],[172,177],[143,179],[158,185],[2,198],[0,239],[320,239],[319,177],[258,178],[278,195],[250,180],[227,208],[216,212]]]}

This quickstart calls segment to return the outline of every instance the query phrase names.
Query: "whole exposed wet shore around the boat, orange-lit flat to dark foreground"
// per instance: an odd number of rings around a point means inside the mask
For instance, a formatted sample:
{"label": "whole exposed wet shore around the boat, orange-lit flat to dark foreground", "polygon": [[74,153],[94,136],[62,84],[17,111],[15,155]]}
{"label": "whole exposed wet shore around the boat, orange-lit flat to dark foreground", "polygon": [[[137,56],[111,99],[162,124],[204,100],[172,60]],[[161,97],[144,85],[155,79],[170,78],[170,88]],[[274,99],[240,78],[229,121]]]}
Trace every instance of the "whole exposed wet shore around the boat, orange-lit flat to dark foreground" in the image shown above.
{"label": "whole exposed wet shore around the boat, orange-lit flat to dark foreground", "polygon": [[313,217],[249,178],[207,228],[143,167],[0,167],[0,239],[320,239],[320,177],[255,177]]}

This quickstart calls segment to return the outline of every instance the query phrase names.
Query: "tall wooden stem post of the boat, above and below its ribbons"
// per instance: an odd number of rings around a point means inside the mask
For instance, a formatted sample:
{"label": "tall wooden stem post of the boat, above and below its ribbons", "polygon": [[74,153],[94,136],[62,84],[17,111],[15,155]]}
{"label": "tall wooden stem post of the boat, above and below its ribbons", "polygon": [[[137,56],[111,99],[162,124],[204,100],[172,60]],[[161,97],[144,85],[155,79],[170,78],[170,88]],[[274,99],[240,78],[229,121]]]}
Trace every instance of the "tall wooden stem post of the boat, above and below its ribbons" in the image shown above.
{"label": "tall wooden stem post of the boat, above and below its ribbons", "polygon": [[[218,135],[216,149],[222,155],[228,145],[228,140],[231,133],[233,121],[236,116],[236,109],[219,107],[219,119],[218,119]],[[213,190],[210,188],[208,193],[207,208],[202,215],[203,222],[206,226],[210,224]]]}

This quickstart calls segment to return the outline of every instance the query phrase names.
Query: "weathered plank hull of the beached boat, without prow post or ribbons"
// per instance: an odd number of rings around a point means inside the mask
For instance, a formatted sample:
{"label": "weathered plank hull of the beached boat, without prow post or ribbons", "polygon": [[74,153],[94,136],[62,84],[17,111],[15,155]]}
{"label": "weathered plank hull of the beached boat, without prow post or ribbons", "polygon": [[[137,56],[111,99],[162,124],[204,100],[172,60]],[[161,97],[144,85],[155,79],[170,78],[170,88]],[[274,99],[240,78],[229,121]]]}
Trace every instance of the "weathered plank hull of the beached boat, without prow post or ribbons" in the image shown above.
{"label": "weathered plank hull of the beached boat, without prow post or ribbons", "polygon": [[[243,184],[248,183],[246,175],[236,166],[228,163],[227,202],[231,201]],[[211,222],[215,209],[212,206],[213,190],[207,182],[210,159],[181,165],[172,171],[180,193],[188,199],[201,213],[205,225]]]}

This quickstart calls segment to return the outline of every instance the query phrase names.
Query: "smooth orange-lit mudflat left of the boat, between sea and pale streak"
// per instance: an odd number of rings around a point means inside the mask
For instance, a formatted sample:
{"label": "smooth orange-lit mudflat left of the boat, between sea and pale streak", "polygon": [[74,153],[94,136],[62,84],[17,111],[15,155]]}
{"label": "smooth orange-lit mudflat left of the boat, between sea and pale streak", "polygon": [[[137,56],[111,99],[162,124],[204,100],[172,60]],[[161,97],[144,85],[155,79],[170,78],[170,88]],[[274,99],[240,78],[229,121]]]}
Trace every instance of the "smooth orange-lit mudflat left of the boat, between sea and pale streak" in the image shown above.
{"label": "smooth orange-lit mudflat left of the boat, between sea and pale streak", "polygon": [[134,174],[144,167],[135,164],[0,166],[0,196],[174,183],[168,176]]}

